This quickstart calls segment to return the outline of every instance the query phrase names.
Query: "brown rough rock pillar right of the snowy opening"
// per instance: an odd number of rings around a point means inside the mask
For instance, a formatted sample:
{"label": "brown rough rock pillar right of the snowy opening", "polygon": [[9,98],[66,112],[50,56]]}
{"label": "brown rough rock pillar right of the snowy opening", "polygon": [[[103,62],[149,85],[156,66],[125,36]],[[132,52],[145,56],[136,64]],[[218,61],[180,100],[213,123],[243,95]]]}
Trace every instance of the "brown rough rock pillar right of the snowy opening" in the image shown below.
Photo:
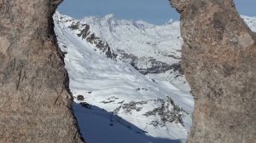
{"label": "brown rough rock pillar right of the snowy opening", "polygon": [[256,141],[256,37],[232,0],[172,0],[195,96],[188,142]]}

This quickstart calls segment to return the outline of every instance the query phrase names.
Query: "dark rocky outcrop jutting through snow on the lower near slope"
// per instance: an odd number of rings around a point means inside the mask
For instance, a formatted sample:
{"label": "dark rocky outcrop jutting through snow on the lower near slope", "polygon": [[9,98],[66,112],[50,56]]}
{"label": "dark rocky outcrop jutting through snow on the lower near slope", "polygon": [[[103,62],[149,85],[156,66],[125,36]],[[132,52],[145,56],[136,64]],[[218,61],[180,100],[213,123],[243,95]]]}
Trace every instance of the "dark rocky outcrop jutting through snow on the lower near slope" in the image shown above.
{"label": "dark rocky outcrop jutting through snow on the lower near slope", "polygon": [[[137,90],[140,90],[138,88]],[[147,90],[147,89],[143,89]],[[107,101],[104,101],[102,103],[108,104],[111,102],[114,102],[114,99],[109,99]],[[189,115],[188,112],[183,110],[181,106],[177,106],[174,101],[172,100],[171,96],[167,96],[166,100],[163,99],[156,99],[156,100],[141,100],[141,101],[130,101],[128,103],[125,103],[125,100],[122,102],[119,102],[120,106],[117,107],[114,110],[114,114],[117,114],[120,112],[120,110],[124,111],[125,113],[132,112],[141,112],[143,110],[143,106],[147,105],[148,102],[154,102],[155,105],[160,104],[160,107],[155,107],[152,111],[145,112],[143,116],[145,117],[154,117],[159,116],[160,120],[152,120],[151,125],[154,127],[164,127],[166,126],[166,123],[181,123],[183,126],[183,117],[185,115]]]}

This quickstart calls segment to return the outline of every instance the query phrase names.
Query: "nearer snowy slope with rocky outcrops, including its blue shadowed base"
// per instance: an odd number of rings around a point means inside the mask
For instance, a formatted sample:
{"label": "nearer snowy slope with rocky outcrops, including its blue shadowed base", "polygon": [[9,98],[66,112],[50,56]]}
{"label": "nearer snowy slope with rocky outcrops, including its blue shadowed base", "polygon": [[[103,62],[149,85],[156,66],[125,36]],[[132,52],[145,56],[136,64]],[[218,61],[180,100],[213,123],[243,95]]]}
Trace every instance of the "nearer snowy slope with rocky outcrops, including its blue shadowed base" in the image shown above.
{"label": "nearer snowy slope with rocky outcrops, including its blue shadowed base", "polygon": [[[68,23],[61,22],[66,18],[55,14],[55,32],[61,50],[66,54],[70,89],[73,96],[84,95],[84,101],[93,105],[92,108],[73,107],[85,140],[115,142],[109,133],[133,135],[119,136],[114,139],[118,142],[186,140],[191,126],[193,97],[172,83],[152,79],[137,72],[130,64],[107,58],[93,43],[78,37]],[[99,112],[98,108],[105,111]],[[100,125],[102,123],[104,125]],[[91,135],[99,133],[108,135],[97,139]],[[132,140],[128,140],[130,138]]]}

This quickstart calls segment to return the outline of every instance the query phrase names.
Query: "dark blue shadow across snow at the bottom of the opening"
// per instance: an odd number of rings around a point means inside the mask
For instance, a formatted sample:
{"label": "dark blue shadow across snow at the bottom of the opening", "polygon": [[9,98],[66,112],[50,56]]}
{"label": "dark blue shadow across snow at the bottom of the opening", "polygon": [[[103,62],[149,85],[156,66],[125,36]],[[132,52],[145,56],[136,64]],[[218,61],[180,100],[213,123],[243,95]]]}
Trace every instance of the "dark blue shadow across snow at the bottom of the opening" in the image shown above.
{"label": "dark blue shadow across snow at the bottom of the opening", "polygon": [[73,103],[79,128],[87,143],[181,143],[148,136],[147,132],[102,108]]}

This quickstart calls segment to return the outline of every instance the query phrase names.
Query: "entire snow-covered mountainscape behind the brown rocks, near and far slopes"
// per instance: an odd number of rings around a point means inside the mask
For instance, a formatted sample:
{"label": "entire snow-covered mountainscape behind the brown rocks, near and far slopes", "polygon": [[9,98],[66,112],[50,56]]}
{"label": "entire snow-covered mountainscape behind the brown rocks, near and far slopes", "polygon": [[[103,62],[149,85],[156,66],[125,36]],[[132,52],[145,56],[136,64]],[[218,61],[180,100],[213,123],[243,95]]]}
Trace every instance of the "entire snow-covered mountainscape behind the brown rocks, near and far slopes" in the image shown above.
{"label": "entire snow-covered mountainscape behind the brown rocks, near and far slopes", "polygon": [[185,142],[194,100],[180,68],[179,22],[154,26],[113,14],[74,20],[58,12],[54,19],[87,142]]}

